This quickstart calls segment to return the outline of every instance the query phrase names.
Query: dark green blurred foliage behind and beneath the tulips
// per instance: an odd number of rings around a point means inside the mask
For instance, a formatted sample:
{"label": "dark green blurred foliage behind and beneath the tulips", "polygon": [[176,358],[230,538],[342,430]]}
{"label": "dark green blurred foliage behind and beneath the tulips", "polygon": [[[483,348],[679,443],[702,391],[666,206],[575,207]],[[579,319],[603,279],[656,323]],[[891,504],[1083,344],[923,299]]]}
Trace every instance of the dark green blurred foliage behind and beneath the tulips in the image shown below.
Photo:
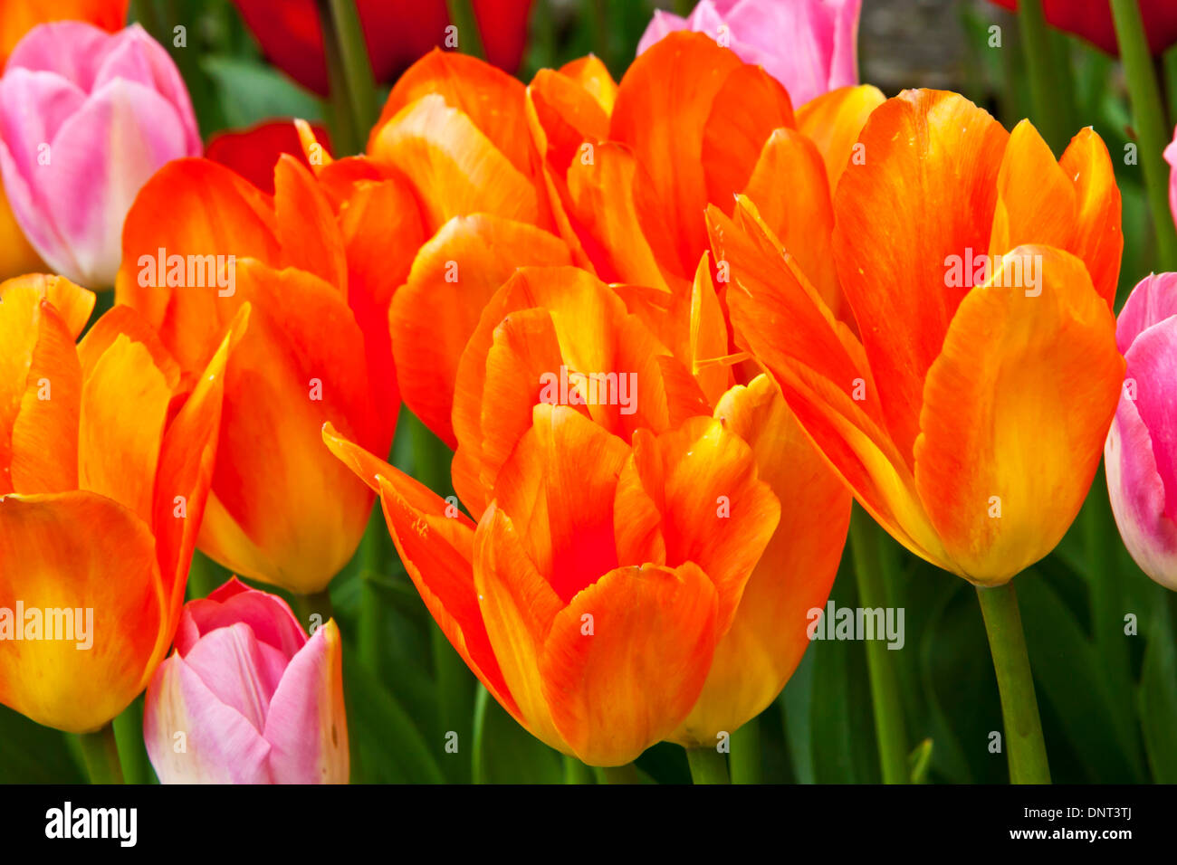
{"label": "dark green blurred foliage behind and beneath the tulips", "polygon": [[[693,4],[657,5],[685,13]],[[654,6],[537,0],[520,76],[526,81],[539,68],[592,52],[620,78]],[[983,0],[864,0],[863,6],[864,82],[887,95],[904,87],[959,91],[1008,128],[1033,119],[1013,15]],[[325,118],[321,100],[264,62],[228,0],[134,0],[132,18],[172,52],[206,140],[271,118]],[[173,46],[179,26],[186,47]],[[991,45],[995,26],[999,47]],[[1142,171],[1124,158],[1135,133],[1123,73],[1113,58],[1077,38],[1051,32],[1050,40],[1052,62],[1071,73],[1062,76],[1070,92],[1057,94],[1069,134],[1093,126],[1116,165],[1124,228],[1118,310],[1128,291],[1157,267]],[[1177,52],[1158,60],[1158,69],[1171,129]],[[1050,144],[1056,155],[1065,146]],[[411,428],[420,435],[419,424],[403,411],[392,461],[448,493],[433,466],[417,471]],[[1000,703],[972,587],[890,538],[880,555],[887,605],[905,611],[905,645],[886,659],[899,679],[912,779],[1004,783],[1005,754],[990,751],[991,731],[1002,730]],[[189,597],[207,594],[227,577],[198,553]],[[857,605],[853,577],[847,545],[831,595],[838,607]],[[1102,470],[1058,550],[1016,586],[1055,781],[1177,781],[1177,601],[1124,550]],[[538,743],[488,698],[425,611],[378,511],[361,553],[332,584],[331,599],[345,639],[354,781],[605,780]],[[357,645],[354,625],[373,605],[380,610],[378,637]],[[1125,633],[1133,619],[1135,633]],[[141,704],[142,698],[117,721],[117,733],[128,780],[154,781],[139,736]],[[446,750],[450,732],[458,733],[457,753]],[[757,741],[762,760],[738,758],[742,746],[749,753]],[[780,698],[754,726],[736,733],[732,747],[737,781],[878,783],[865,645],[814,643]],[[0,781],[81,783],[75,750],[74,737],[0,707]],[[673,745],[651,748],[637,767],[630,780],[690,781],[684,752]]]}

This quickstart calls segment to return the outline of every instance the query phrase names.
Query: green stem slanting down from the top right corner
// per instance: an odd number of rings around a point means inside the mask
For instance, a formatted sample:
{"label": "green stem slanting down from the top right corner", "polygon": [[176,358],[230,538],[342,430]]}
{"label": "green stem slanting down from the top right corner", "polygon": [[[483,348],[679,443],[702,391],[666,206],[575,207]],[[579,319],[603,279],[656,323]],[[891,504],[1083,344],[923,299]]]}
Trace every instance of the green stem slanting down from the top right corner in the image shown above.
{"label": "green stem slanting down from the top right corner", "polygon": [[1169,211],[1169,166],[1164,159],[1169,137],[1161,88],[1157,86],[1152,54],[1144,34],[1144,20],[1136,0],[1111,0],[1111,12],[1116,21],[1116,39],[1119,41],[1128,93],[1132,99],[1132,122],[1139,142],[1152,227],[1157,234],[1161,259],[1158,270],[1172,271],[1177,270],[1177,229],[1173,228],[1173,215]]}

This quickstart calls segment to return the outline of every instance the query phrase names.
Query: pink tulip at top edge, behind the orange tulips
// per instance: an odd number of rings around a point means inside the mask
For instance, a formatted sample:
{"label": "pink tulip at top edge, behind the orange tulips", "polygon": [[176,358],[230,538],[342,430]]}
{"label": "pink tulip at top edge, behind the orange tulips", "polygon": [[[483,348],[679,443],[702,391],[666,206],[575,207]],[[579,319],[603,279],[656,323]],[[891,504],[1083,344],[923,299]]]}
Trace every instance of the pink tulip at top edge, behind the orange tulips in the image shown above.
{"label": "pink tulip at top edge, behind the orange tulips", "polygon": [[654,12],[640,54],[674,31],[705,33],[742,60],[763,66],[794,106],[858,84],[862,0],[701,0],[689,18]]}

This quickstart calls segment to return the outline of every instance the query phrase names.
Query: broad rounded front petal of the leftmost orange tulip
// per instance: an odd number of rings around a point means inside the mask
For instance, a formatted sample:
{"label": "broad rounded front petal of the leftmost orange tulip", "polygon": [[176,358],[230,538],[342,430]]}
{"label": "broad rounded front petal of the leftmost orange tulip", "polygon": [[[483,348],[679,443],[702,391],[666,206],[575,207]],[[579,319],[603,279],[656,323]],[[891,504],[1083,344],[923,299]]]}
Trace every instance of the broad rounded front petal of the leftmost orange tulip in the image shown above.
{"label": "broad rounded front petal of the leftmost orange tulip", "polygon": [[[15,611],[18,601],[25,621],[7,625],[24,628],[26,639],[0,640],[0,703],[38,724],[98,730],[142,691],[164,657],[151,528],[111,499],[82,491],[0,497],[0,608]],[[33,610],[41,639],[29,639]],[[44,639],[46,610],[71,612],[73,639],[60,638],[62,630]],[[93,619],[86,617],[84,636],[85,611]]]}

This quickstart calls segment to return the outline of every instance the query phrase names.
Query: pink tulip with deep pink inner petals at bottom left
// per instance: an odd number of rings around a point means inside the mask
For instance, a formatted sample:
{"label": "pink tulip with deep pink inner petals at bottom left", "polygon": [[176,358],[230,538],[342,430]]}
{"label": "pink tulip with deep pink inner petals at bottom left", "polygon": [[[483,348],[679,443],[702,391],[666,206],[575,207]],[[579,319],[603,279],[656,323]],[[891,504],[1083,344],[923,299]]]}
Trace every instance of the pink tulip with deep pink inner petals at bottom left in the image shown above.
{"label": "pink tulip with deep pink inner petals at bottom left", "polygon": [[144,739],[164,784],[346,784],[334,620],[307,639],[286,601],[237,578],[188,601],[147,686]]}

